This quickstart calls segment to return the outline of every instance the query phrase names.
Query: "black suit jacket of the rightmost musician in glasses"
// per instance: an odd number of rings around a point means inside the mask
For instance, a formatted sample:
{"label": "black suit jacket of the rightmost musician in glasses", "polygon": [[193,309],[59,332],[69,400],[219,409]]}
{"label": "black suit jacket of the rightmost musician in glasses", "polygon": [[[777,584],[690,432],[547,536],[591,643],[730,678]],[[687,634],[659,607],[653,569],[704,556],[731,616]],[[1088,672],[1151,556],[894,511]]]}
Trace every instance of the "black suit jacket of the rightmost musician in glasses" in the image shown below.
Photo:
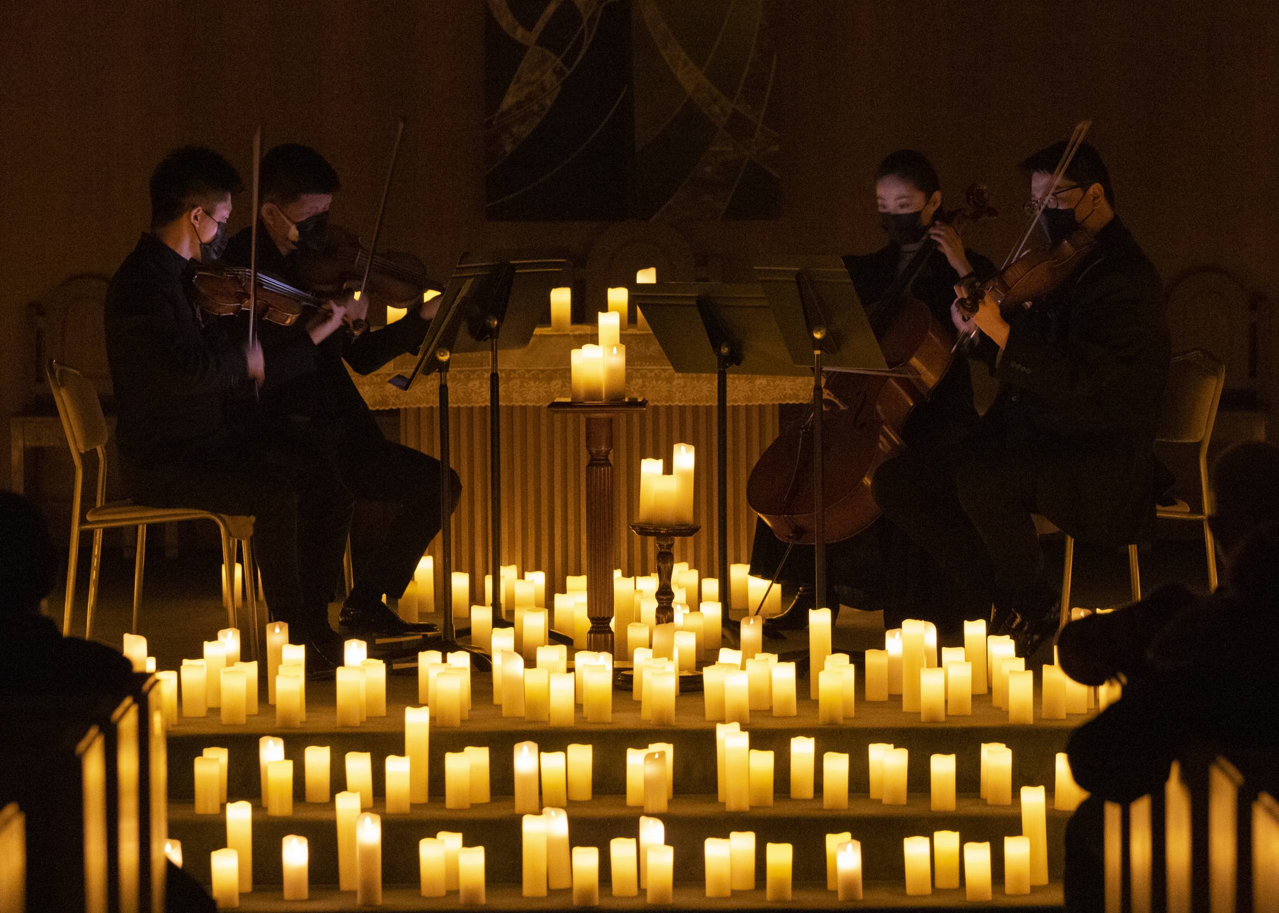
{"label": "black suit jacket of the rightmost musician in glasses", "polygon": [[1136,541],[1154,508],[1169,339],[1159,274],[1119,221],[1044,300],[1004,315],[1003,353],[980,352],[1000,393],[987,433],[1010,433],[1044,454],[1045,515],[1076,538]]}

